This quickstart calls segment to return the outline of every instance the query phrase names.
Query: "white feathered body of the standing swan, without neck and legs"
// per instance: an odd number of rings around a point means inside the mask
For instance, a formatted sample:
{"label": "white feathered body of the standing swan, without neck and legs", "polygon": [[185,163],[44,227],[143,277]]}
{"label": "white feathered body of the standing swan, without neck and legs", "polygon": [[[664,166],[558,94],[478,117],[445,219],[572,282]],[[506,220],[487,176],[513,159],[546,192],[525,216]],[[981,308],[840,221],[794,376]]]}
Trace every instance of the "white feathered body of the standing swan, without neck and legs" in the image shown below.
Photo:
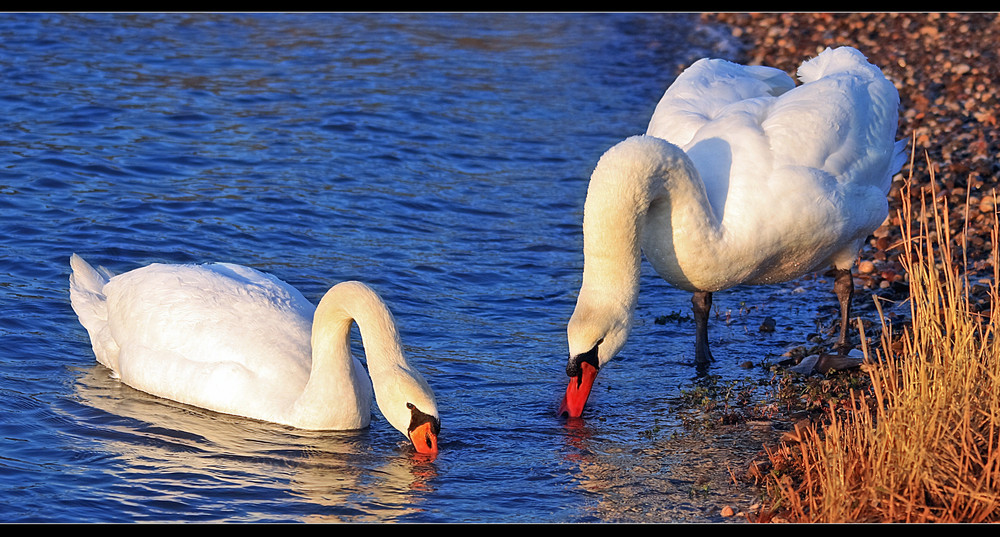
{"label": "white feathered body of the standing swan, without neck and legs", "polygon": [[[692,160],[727,242],[725,255],[712,257],[685,248],[685,237],[661,237],[688,267],[683,276],[661,272],[667,281],[715,291],[824,264],[849,268],[885,220],[892,176],[906,158],[894,140],[896,88],[849,47],[825,50],[798,74],[796,87],[777,69],[704,59],[660,100],[647,134]],[[738,265],[757,269],[727,276],[722,268]]]}

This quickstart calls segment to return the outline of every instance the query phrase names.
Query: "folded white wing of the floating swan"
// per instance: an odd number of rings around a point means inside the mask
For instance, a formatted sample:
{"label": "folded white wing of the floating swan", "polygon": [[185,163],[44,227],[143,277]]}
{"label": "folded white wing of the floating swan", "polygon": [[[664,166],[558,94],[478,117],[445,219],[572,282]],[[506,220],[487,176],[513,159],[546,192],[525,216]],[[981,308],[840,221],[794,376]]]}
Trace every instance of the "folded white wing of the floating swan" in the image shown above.
{"label": "folded white wing of the floating swan", "polygon": [[307,379],[311,304],[290,286],[213,270],[224,268],[150,265],[113,279],[105,287],[112,336],[122,347]]}

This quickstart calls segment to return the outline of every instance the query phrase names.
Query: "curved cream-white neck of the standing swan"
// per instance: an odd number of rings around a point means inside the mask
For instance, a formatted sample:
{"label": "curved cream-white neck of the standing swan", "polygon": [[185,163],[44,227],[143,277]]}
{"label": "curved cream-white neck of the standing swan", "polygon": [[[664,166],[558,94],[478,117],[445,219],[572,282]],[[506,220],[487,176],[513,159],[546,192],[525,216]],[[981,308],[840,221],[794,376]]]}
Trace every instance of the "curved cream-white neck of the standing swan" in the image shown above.
{"label": "curved cream-white neck of the standing swan", "polygon": [[[647,221],[656,219],[647,240]],[[677,264],[678,233],[685,243],[707,250],[718,242],[720,226],[705,186],[683,150],[650,136],[629,138],[608,150],[590,179],[583,218],[583,289],[616,297],[631,311],[639,289],[641,249],[656,264]],[[666,240],[664,240],[666,237]],[[662,272],[661,272],[662,273]]]}

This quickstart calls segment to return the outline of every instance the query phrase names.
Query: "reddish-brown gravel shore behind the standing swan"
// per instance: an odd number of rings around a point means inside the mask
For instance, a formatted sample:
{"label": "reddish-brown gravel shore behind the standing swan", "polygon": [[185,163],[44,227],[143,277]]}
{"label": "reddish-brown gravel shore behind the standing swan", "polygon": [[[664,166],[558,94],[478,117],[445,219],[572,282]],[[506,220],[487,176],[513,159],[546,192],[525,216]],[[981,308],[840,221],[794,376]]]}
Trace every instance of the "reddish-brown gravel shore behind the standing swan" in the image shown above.
{"label": "reddish-brown gravel shore behind the standing swan", "polygon": [[[938,196],[949,198],[952,229],[962,229],[968,204],[970,278],[992,276],[990,229],[1000,175],[1000,14],[722,13],[702,18],[731,28],[744,45],[741,63],[770,65],[794,76],[803,60],[824,48],[850,45],[879,66],[899,90],[897,137],[915,144],[911,190],[930,186],[933,175]],[[890,218],[856,266],[869,289],[905,281],[893,245],[900,238],[896,214],[910,168],[897,175]]]}

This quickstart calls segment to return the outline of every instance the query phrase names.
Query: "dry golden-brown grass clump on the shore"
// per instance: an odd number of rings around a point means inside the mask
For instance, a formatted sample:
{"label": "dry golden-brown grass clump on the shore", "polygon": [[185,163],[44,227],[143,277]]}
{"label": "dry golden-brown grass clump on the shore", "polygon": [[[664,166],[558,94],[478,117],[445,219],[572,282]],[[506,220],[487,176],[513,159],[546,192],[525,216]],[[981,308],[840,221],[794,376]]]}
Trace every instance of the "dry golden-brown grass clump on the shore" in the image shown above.
{"label": "dry golden-brown grass clump on the shore", "polygon": [[797,441],[768,452],[773,512],[787,520],[1000,521],[996,217],[993,308],[979,313],[963,268],[968,233],[951,229],[947,204],[933,190],[904,198],[900,258],[911,324],[890,327],[880,309],[881,341],[864,349],[870,390],[852,393],[846,411],[831,405],[825,426],[799,429]]}

